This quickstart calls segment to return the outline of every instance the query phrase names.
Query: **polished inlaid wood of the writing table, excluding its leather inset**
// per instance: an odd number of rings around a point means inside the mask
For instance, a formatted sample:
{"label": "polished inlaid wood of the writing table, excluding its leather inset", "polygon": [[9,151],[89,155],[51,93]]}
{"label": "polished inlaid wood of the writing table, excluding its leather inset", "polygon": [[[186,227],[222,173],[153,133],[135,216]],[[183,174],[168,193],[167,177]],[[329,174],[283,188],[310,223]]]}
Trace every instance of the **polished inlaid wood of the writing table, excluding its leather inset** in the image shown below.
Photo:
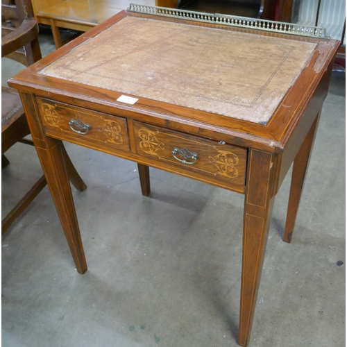
{"label": "polished inlaid wood of the writing table, excluding its leather inset", "polygon": [[[117,74],[121,74],[121,70],[110,70],[110,82],[101,86],[42,73],[57,67],[56,62],[64,59],[73,49],[75,53],[78,52],[77,47],[83,46],[84,42],[98,42],[99,34],[128,17],[186,25],[192,30],[199,27],[206,32],[213,28],[219,35],[228,31],[235,35],[245,33],[248,36],[275,37],[293,45],[305,42],[313,44],[314,49],[303,67],[296,67],[296,78],[287,85],[287,91],[281,96],[269,120],[262,123],[207,112],[196,105],[189,107],[159,97],[146,99],[139,94],[121,92],[117,90],[117,83],[116,87],[110,87],[112,76],[120,78],[121,75]],[[126,37],[127,32],[122,33]],[[112,40],[109,44],[112,51]],[[131,40],[127,44],[131,46]],[[150,53],[151,44],[146,47]],[[20,91],[35,146],[78,272],[84,273],[87,265],[62,155],[62,139],[137,162],[144,195],[150,194],[149,166],[244,194],[239,344],[246,346],[251,334],[274,197],[294,162],[285,235],[285,241],[289,242],[314,133],[328,92],[332,60],[338,47],[336,40],[123,11],[12,78],[10,85]],[[106,48],[103,47],[100,52]],[[135,53],[136,49],[134,46]],[[266,53],[262,54],[255,59],[262,59],[266,63]],[[242,61],[242,51],[239,55],[239,61]],[[82,55],[79,58],[85,57]],[[92,57],[83,64],[92,64],[93,59],[100,62],[105,57],[106,53]],[[112,61],[110,55],[108,58]],[[196,58],[196,64],[201,63],[201,59],[203,53]],[[130,57],[128,64],[131,63]],[[162,61],[162,64],[166,63]],[[81,66],[73,65],[76,69]],[[210,69],[218,66],[218,62],[210,62]],[[217,68],[216,71],[218,78],[220,70]],[[246,70],[244,74],[247,74]],[[255,76],[247,78],[252,81]],[[117,101],[121,95],[138,100],[133,104]],[[91,128],[86,131],[82,127],[84,134],[76,133],[70,129],[71,119],[80,119],[83,124],[90,124]],[[171,152],[176,147],[189,150],[190,156],[176,155],[178,159],[174,158]],[[197,154],[195,158],[192,153]]]}

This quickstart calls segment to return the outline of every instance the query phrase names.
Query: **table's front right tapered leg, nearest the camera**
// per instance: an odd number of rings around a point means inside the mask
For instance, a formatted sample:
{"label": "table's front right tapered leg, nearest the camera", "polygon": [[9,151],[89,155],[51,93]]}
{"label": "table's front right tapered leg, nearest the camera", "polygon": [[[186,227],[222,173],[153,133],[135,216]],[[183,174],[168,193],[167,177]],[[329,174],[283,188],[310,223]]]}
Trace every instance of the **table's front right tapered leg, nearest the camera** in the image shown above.
{"label": "table's front right tapered leg, nearest the camera", "polygon": [[247,346],[251,335],[262,263],[274,198],[271,153],[251,149],[248,154],[244,203],[244,239],[239,318],[239,345]]}

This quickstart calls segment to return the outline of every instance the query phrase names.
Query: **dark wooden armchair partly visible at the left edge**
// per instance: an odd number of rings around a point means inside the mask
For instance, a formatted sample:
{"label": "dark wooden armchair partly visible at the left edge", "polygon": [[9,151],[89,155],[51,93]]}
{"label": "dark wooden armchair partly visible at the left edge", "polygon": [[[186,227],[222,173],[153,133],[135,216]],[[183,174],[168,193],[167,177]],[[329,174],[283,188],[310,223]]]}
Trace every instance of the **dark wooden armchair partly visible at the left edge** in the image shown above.
{"label": "dark wooden armchair partly visible at the left edge", "polygon": [[[6,56],[26,67],[42,58],[37,40],[38,25],[33,17],[30,0],[1,0],[1,57]],[[9,164],[5,153],[17,142],[31,144],[31,139],[24,139],[30,135],[22,102],[16,90],[1,87],[1,166]],[[74,165],[64,149],[69,179],[79,191],[86,189],[86,185],[78,175]],[[44,176],[33,185],[10,213],[2,220],[2,234],[19,217],[26,207],[33,201],[46,185]]]}

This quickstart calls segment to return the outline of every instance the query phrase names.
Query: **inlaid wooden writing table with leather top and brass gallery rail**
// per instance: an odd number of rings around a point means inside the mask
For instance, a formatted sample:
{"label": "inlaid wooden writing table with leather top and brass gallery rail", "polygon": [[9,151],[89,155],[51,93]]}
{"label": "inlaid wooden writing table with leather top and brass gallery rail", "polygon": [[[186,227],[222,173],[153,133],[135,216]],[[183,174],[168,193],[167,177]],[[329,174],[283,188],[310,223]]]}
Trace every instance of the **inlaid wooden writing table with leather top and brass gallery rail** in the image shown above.
{"label": "inlaid wooden writing table with leather top and brass gallery rail", "polygon": [[144,195],[149,166],[244,194],[246,346],[273,200],[294,162],[290,242],[338,47],[319,28],[131,5],[10,79],[78,272],[62,140],[137,162]]}

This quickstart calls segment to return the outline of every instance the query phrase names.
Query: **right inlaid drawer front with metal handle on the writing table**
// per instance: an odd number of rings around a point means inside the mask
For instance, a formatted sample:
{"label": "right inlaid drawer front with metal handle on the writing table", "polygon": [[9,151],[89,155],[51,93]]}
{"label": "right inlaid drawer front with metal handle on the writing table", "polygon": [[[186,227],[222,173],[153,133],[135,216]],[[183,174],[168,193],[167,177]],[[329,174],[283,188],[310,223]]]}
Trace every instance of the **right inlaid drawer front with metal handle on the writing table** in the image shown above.
{"label": "right inlaid drawer front with metal handle on the writing table", "polygon": [[134,130],[138,155],[183,171],[194,171],[214,181],[245,185],[247,149],[137,121]]}

